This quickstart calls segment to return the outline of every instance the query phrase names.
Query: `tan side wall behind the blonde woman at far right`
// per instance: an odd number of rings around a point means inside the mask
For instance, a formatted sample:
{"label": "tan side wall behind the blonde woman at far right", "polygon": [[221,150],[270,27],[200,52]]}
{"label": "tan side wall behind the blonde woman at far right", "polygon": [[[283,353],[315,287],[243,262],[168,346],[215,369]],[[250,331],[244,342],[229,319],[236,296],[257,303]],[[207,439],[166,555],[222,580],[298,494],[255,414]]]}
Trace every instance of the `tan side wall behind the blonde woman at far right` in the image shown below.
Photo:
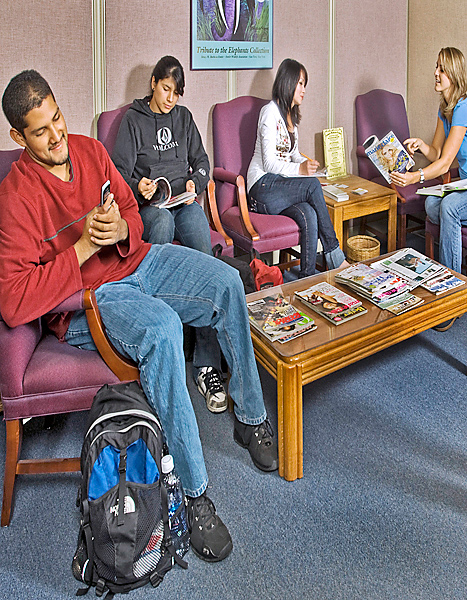
{"label": "tan side wall behind the blonde woman at far right", "polygon": [[455,46],[467,55],[467,12],[459,0],[409,0],[408,117],[410,134],[433,139],[439,96],[434,91],[438,52]]}

